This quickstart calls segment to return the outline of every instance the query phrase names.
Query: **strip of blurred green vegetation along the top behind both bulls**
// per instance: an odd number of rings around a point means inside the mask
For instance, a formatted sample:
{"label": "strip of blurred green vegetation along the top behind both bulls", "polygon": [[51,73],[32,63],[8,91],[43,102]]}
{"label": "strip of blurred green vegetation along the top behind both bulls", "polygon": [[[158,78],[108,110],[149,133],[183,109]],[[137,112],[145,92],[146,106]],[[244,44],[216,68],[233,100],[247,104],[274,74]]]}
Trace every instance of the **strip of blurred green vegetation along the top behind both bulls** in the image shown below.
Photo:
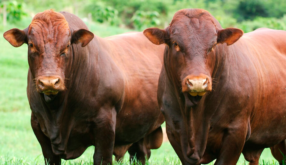
{"label": "strip of blurred green vegetation along the top behind both bulls", "polygon": [[7,21],[16,23],[38,12],[55,9],[79,17],[135,30],[166,27],[182,8],[203,8],[222,27],[241,28],[245,33],[259,27],[286,30],[286,0],[0,0],[0,22],[6,5]]}

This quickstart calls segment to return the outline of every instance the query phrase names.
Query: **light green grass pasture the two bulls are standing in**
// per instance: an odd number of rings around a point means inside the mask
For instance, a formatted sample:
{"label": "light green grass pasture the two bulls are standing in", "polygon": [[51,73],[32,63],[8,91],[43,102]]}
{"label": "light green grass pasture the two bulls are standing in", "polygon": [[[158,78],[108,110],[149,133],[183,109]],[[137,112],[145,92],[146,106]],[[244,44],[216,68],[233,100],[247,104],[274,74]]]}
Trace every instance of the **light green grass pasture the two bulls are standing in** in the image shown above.
{"label": "light green grass pasture the two bulls are standing in", "polygon": [[[23,29],[29,23],[23,23],[17,28]],[[90,30],[97,36],[105,37],[123,33],[126,29],[88,24]],[[44,164],[40,145],[30,126],[30,107],[26,96],[27,85],[27,46],[19,48],[11,46],[3,33],[10,28],[0,28],[0,164]],[[85,153],[75,160],[62,160],[63,164],[92,164],[94,147],[89,147]],[[129,164],[126,154],[121,163]],[[149,164],[181,164],[169,142],[151,151]],[[210,164],[213,164],[210,163]],[[238,164],[248,164],[241,156]],[[260,158],[260,164],[278,164],[272,157],[270,149],[265,149]]]}

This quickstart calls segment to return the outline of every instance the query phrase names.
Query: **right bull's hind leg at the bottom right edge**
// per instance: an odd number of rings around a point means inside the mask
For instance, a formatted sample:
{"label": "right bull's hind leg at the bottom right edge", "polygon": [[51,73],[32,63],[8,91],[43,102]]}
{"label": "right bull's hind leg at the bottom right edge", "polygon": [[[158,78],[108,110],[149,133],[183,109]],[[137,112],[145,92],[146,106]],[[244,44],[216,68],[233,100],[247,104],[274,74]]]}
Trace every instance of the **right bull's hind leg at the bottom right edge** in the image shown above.
{"label": "right bull's hind leg at the bottom right edge", "polygon": [[279,161],[279,164],[286,164],[286,139],[277,145],[270,147],[271,153],[276,160]]}

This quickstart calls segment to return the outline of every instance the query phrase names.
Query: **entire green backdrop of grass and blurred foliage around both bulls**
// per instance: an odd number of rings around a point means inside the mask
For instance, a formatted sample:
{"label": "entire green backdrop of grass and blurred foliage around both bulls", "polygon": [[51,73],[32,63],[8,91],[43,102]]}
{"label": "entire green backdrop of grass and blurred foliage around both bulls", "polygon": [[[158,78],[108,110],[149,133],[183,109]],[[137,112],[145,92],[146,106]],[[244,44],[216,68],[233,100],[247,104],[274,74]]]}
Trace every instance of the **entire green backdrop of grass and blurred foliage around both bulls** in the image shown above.
{"label": "entire green backdrop of grass and blurred foliage around both bulls", "polygon": [[[259,27],[286,30],[286,0],[0,0],[0,164],[44,163],[30,126],[31,111],[26,97],[27,47],[14,48],[2,36],[11,28],[26,28],[36,13],[51,8],[78,15],[100,37],[151,26],[164,28],[182,8],[206,9],[222,27],[237,27],[245,33]],[[90,147],[78,159],[62,162],[92,164],[93,151],[94,147]],[[126,154],[120,164],[129,164],[128,160]],[[152,150],[149,162],[180,164],[169,142]],[[238,164],[245,164],[243,156]],[[270,150],[265,149],[260,164],[278,163]]]}

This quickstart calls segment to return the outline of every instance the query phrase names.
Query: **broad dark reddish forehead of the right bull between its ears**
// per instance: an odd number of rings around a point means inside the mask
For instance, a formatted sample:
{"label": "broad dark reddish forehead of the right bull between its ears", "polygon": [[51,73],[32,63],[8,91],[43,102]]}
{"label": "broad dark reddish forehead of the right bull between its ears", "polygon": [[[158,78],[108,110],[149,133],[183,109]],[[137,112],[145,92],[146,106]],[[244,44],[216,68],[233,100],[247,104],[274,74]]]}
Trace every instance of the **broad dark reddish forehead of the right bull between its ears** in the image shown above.
{"label": "broad dark reddish forehead of the right bull between its ears", "polygon": [[[217,39],[216,24],[211,14],[202,9],[182,9],[170,23],[170,41],[185,51],[206,51]],[[194,52],[193,52],[194,53]]]}

